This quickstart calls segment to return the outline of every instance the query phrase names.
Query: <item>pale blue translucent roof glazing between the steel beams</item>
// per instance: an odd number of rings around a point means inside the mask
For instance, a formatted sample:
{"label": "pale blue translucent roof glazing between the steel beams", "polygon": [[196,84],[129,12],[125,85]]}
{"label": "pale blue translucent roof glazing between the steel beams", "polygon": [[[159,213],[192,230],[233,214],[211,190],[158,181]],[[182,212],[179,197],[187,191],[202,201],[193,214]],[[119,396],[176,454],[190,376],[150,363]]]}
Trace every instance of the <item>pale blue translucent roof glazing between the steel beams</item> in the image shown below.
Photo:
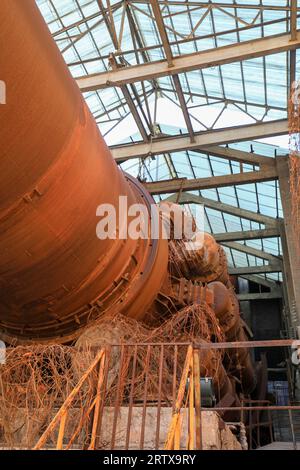
{"label": "pale blue translucent roof glazing between the steel beams", "polygon": [[[74,77],[110,70],[112,59],[117,66],[126,67],[166,58],[148,0],[36,2]],[[196,0],[159,0],[159,3],[174,57],[284,34],[290,28],[286,0],[222,0],[203,1],[201,4]],[[296,63],[299,61],[297,52]],[[300,67],[298,69],[300,76]],[[194,132],[285,119],[287,116],[290,69],[286,52],[181,73],[178,78]],[[131,103],[123,91],[107,87],[84,94],[108,145],[142,141],[140,123],[149,139],[187,133],[187,122],[172,77],[127,85]],[[139,123],[130,112],[132,106],[137,110]],[[270,145],[270,142],[275,145]],[[275,153],[287,153],[287,146],[288,140],[283,136],[232,143],[229,147],[274,158]],[[128,160],[121,166],[147,181],[174,177],[205,178],[240,172],[237,162],[196,151]],[[244,172],[253,170],[252,165],[243,165]],[[274,181],[192,193],[255,213],[282,217],[278,184]],[[263,228],[249,219],[212,208],[206,208],[206,217],[207,229],[214,233]],[[249,240],[246,245],[275,256],[281,254],[277,238]],[[261,258],[237,250],[231,249],[229,253],[235,266],[244,266],[245,262],[247,265],[262,263]],[[278,280],[281,275],[267,276]]]}

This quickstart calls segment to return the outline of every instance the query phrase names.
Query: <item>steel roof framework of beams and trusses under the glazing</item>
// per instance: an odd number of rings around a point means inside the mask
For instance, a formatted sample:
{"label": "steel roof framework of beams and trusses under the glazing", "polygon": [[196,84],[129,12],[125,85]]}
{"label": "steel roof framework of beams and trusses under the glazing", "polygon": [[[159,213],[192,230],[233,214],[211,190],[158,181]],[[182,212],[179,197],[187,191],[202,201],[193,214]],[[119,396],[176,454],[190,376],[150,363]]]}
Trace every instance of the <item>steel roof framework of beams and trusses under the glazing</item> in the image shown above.
{"label": "steel roof framework of beams and trusses under the glazing", "polygon": [[[41,3],[40,0],[36,0]],[[275,2],[274,2],[275,3]],[[184,204],[205,203],[221,214],[226,228],[224,214],[231,213],[239,217],[243,233],[229,230],[227,234],[216,234],[217,238],[231,253],[233,272],[253,275],[256,280],[267,281],[266,272],[272,269],[283,270],[287,281],[286,297],[290,311],[293,312],[291,320],[294,326],[300,324],[300,293],[297,289],[297,276],[299,266],[295,266],[297,257],[294,256],[294,247],[289,236],[290,208],[284,204],[283,214],[285,226],[280,219],[279,205],[288,191],[286,177],[282,177],[283,160],[267,158],[257,155],[253,151],[244,152],[231,148],[233,143],[253,141],[255,139],[287,134],[286,105],[278,105],[272,101],[268,88],[268,61],[270,55],[284,52],[286,54],[286,94],[291,83],[296,78],[296,54],[300,47],[300,33],[297,31],[297,21],[300,17],[300,5],[297,0],[276,2],[274,5],[265,5],[260,0],[257,5],[237,0],[232,3],[222,1],[194,1],[185,2],[177,0],[74,0],[70,2],[70,9],[60,12],[53,0],[48,0],[52,17],[48,24],[53,32],[62,54],[64,55],[71,72],[87,100],[89,97],[97,98],[100,103],[99,110],[94,112],[97,122],[101,126],[107,125],[104,136],[117,129],[117,126],[131,115],[138,130],[131,144],[114,145],[112,153],[119,164],[130,159],[138,161],[146,178],[146,186],[159,198],[162,194],[175,194],[176,201]],[[278,4],[281,3],[281,4]],[[74,7],[75,6],[75,7]],[[89,9],[88,7],[93,7]],[[71,13],[76,13],[78,20],[69,21]],[[86,13],[92,12],[92,13]],[[220,27],[220,15],[224,19],[224,26]],[[47,19],[47,18],[46,18]],[[181,20],[181,22],[180,22]],[[141,22],[147,23],[147,31]],[[209,21],[211,32],[203,31],[205,21]],[[233,23],[234,22],[234,27]],[[185,27],[182,27],[182,24]],[[106,28],[106,47],[97,43],[93,32],[99,25]],[[127,28],[127,29],[126,29]],[[276,28],[280,34],[274,34]],[[128,39],[129,31],[130,39]],[[151,33],[149,33],[149,31]],[[128,32],[127,31],[127,32]],[[270,33],[271,31],[271,33]],[[253,40],[245,41],[246,33],[250,33]],[[151,36],[151,40],[149,40]],[[82,54],[80,44],[84,38],[93,43],[93,53]],[[229,42],[228,37],[235,41]],[[227,38],[227,39],[226,39]],[[211,47],[201,48],[202,41],[211,41]],[[227,41],[227,42],[226,42]],[[224,44],[227,44],[224,46]],[[187,48],[190,52],[184,53]],[[72,51],[70,57],[68,52]],[[154,59],[154,57],[156,59]],[[257,100],[247,90],[246,63],[260,57],[263,64],[263,78],[261,81],[263,100]],[[242,97],[232,99],[226,91],[226,77],[224,64],[237,64],[241,78]],[[89,73],[94,66],[101,71]],[[205,70],[213,70],[220,82],[221,93],[212,93],[206,86]],[[78,72],[81,71],[81,73]],[[202,91],[193,87],[190,72],[195,71]],[[167,81],[161,78],[168,76]],[[102,98],[102,91],[111,89],[114,99],[108,104]],[[165,135],[157,124],[157,100],[160,96],[175,103],[182,111],[186,134]],[[154,116],[150,110],[150,99],[155,100]],[[195,115],[196,108],[203,106],[221,105],[221,110],[214,122],[207,126]],[[228,106],[234,106],[252,119],[253,124],[239,125],[233,128],[220,128],[218,124]],[[253,109],[260,109],[260,118]],[[270,119],[269,113],[281,113],[284,119]],[[200,132],[195,129],[202,126]],[[226,146],[225,146],[226,145]],[[228,147],[229,146],[229,147]],[[174,152],[184,152],[190,165],[193,178],[180,178]],[[193,168],[190,152],[204,154],[211,167],[211,177],[197,178]],[[147,167],[147,161],[162,156],[168,169],[166,180],[153,177]],[[230,165],[230,174],[215,175],[212,159],[224,159]],[[240,165],[240,171],[233,171],[232,162]],[[251,165],[251,171],[244,170],[245,165]],[[158,170],[157,170],[158,171]],[[139,171],[140,173],[140,171]],[[264,214],[259,207],[259,189],[262,181],[276,181],[275,204],[277,218],[271,224],[264,224]],[[255,186],[257,200],[257,213],[241,209],[238,196],[238,187],[252,183]],[[224,204],[220,197],[219,188],[232,186],[236,194],[237,207],[230,208]],[[201,190],[216,188],[217,200],[203,197]],[[194,191],[194,194],[187,191]],[[195,190],[198,196],[195,195]],[[199,198],[195,200],[195,198]],[[227,212],[226,212],[227,211]],[[211,223],[208,218],[208,223]],[[270,219],[270,217],[269,217]],[[245,230],[244,220],[257,223],[252,230]],[[270,220],[269,220],[270,222]],[[227,228],[226,228],[226,231]],[[258,238],[261,248],[250,246],[246,240]],[[264,238],[272,238],[278,246],[278,256],[268,253],[264,246]],[[279,239],[282,240],[282,251]],[[238,243],[242,241],[242,243]],[[248,266],[236,266],[233,253],[243,252],[247,256]],[[281,262],[283,255],[284,262]],[[249,257],[255,257],[255,266]],[[259,261],[259,262],[257,262]],[[263,263],[263,265],[261,265]],[[249,272],[246,272],[249,271]],[[295,277],[296,276],[296,277]],[[299,282],[298,282],[299,284]],[[297,307],[298,306],[298,307]]]}

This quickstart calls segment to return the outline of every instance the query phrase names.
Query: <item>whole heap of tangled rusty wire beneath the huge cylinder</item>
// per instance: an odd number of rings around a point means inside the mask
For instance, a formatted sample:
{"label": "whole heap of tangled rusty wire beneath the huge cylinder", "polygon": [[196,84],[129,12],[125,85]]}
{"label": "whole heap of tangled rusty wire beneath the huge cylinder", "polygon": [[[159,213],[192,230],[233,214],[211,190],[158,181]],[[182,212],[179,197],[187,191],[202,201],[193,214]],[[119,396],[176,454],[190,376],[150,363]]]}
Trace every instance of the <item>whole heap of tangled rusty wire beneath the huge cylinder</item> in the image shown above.
{"label": "whole heap of tangled rusty wire beneath the huge cylinder", "polygon": [[[119,314],[99,320],[93,328],[89,341],[84,341],[83,336],[76,346],[36,345],[8,350],[6,364],[0,366],[2,446],[32,448],[36,444],[92,362],[95,349],[99,350],[100,346],[109,347],[105,406],[116,409],[128,406],[133,380],[131,399],[134,406],[142,406],[145,400],[147,406],[153,404],[157,402],[158,395],[164,406],[172,406],[187,349],[187,346],[182,346],[176,350],[174,371],[174,344],[224,340],[214,311],[206,304],[186,307],[158,328],[150,328]],[[135,347],[137,343],[139,346]],[[165,344],[163,362],[162,343]],[[124,349],[122,345],[128,346]],[[207,354],[202,361],[201,373],[217,381],[222,355],[215,352],[212,357]],[[83,421],[81,432],[74,440],[79,448],[84,448],[89,440],[90,421],[84,417],[95,396],[96,374],[94,371],[88,377],[77,395],[66,427],[66,436],[70,439],[78,423]],[[56,437],[57,432],[53,433],[49,446],[55,444]],[[110,443],[100,445],[105,447]]]}

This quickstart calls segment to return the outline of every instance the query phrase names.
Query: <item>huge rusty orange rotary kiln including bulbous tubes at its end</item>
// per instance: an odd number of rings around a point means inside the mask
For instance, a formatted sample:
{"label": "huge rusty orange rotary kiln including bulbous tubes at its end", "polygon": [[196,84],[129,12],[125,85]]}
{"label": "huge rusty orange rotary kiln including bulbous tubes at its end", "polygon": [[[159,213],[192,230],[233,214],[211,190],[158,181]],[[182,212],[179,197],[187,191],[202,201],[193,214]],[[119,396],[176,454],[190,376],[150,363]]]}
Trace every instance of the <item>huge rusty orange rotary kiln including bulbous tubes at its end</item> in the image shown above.
{"label": "huge rusty orange rotary kiln including bulbous tubes at its end", "polygon": [[[226,340],[245,340],[226,257],[213,237],[193,252],[162,238],[99,241],[99,204],[118,207],[127,196],[150,211],[154,201],[113,161],[34,0],[2,0],[0,23],[7,87],[0,109],[1,338],[67,343],[105,313],[155,324],[166,310],[201,302]],[[207,353],[206,370],[217,354]],[[220,395],[235,386],[232,377],[249,393],[249,351],[228,356],[217,373]]]}

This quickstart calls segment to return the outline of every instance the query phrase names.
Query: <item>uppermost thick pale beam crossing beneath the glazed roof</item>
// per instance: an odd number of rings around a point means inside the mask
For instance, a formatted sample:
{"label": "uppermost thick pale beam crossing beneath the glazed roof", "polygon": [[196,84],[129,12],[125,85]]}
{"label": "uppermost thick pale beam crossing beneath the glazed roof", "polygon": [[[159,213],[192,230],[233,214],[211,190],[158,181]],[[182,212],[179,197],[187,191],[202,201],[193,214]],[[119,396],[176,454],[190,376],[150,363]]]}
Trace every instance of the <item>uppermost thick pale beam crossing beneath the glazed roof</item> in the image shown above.
{"label": "uppermost thick pale beam crossing beneath the glazed roof", "polygon": [[291,40],[290,34],[268,36],[263,39],[245,41],[174,57],[172,67],[169,66],[167,60],[161,60],[79,77],[77,78],[77,83],[82,92],[94,91],[109,86],[121,86],[143,80],[153,80],[153,78],[215,67],[216,65],[229,64],[269,54],[277,54],[294,50],[298,47],[300,47],[299,32],[296,33],[294,40]]}

